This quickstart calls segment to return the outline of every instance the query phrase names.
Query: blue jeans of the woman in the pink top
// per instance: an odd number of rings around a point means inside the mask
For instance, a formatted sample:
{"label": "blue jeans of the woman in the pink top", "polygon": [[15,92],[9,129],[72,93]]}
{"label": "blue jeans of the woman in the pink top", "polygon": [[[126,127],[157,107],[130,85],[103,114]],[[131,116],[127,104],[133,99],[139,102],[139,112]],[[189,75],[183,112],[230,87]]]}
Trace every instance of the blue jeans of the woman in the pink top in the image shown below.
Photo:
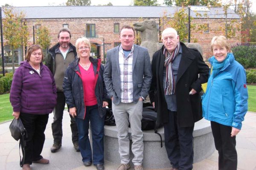
{"label": "blue jeans of the woman in the pink top", "polygon": [[[89,122],[93,138],[93,158],[89,140]],[[86,106],[85,119],[76,118],[79,134],[79,149],[82,161],[104,164],[104,117],[99,116],[98,105]]]}

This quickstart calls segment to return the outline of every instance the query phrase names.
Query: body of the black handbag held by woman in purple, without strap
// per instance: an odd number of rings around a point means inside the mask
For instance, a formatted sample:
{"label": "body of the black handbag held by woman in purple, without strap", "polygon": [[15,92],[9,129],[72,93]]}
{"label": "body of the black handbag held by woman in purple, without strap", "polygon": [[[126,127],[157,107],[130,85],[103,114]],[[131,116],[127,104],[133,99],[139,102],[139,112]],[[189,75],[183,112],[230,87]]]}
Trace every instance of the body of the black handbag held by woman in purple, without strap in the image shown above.
{"label": "body of the black handbag held by woman in purple, without strap", "polygon": [[19,119],[14,118],[12,120],[12,123],[9,126],[9,128],[10,128],[12,137],[16,141],[18,141],[21,138],[22,135],[23,136],[25,135],[26,129],[25,129],[24,125],[22,124],[20,118]]}

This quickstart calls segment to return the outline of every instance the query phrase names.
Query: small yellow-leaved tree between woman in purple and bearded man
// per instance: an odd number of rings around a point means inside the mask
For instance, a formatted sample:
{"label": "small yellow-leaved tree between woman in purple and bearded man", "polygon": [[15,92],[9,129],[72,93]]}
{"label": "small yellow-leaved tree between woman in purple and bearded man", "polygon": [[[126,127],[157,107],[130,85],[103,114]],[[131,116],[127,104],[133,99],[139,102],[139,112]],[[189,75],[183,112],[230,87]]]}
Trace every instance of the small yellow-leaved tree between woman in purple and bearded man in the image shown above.
{"label": "small yellow-leaved tree between woman in purple and bearded man", "polygon": [[51,45],[50,31],[47,27],[41,26],[36,31],[36,43],[44,49],[44,56],[47,54],[47,48]]}

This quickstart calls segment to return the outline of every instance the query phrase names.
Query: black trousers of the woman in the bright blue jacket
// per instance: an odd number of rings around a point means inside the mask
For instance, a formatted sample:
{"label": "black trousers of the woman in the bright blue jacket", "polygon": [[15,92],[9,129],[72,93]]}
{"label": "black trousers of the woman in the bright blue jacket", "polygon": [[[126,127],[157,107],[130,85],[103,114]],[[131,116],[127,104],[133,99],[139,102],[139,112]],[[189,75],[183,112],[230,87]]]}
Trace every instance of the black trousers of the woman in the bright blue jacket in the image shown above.
{"label": "black trousers of the woman in the bright blue jacket", "polygon": [[218,168],[219,170],[236,170],[236,136],[231,137],[231,126],[221,125],[211,121],[212,135],[215,148],[218,150]]}

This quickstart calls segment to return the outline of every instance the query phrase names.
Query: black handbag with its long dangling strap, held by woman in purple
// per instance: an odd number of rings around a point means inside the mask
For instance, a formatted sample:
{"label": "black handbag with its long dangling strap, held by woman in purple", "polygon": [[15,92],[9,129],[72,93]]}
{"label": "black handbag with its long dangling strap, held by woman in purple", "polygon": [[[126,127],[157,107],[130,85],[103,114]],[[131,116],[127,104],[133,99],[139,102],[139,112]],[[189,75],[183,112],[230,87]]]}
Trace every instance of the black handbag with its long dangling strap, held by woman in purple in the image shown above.
{"label": "black handbag with its long dangling strap, held by woman in purple", "polygon": [[[27,133],[26,133],[26,128],[24,127],[23,123],[21,122],[20,118],[16,119],[14,118],[12,120],[12,123],[9,126],[12,137],[18,141],[20,139],[20,146],[21,142],[23,143],[23,147],[21,147],[21,150],[23,151],[23,159],[21,160],[20,156],[20,167],[23,167],[24,161],[25,161],[25,146],[26,146],[26,138],[27,138]],[[20,149],[19,149],[20,151]]]}

